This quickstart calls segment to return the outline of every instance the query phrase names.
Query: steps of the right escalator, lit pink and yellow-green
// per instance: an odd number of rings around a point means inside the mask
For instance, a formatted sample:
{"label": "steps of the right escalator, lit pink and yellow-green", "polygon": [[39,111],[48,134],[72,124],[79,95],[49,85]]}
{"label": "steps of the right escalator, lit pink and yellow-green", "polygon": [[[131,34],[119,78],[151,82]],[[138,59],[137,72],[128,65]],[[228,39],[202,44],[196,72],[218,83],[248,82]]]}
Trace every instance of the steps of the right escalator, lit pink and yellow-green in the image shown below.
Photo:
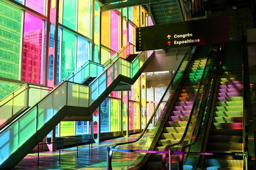
{"label": "steps of the right escalator, lit pink and yellow-green", "polygon": [[[241,56],[241,41],[225,44],[206,152],[244,152]],[[243,156],[206,156],[205,168],[243,169]]]}

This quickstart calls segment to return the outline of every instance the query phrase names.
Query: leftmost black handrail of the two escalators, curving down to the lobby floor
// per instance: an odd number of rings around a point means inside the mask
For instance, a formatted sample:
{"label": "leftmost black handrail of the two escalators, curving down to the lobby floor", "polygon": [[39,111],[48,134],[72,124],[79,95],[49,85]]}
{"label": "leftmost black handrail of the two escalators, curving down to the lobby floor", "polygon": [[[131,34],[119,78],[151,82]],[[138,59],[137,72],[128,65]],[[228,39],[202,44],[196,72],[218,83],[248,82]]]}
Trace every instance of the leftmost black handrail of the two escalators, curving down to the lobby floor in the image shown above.
{"label": "leftmost black handrail of the two escalators, curving down to the lobby floor", "polygon": [[[158,110],[158,108],[160,107],[160,104],[162,103],[162,101],[163,101],[163,99],[164,99],[164,96],[166,95],[168,89],[169,89],[170,86],[173,84],[174,79],[175,79],[175,77],[176,77],[176,75],[177,75],[177,73],[178,73],[178,70],[180,69],[181,65],[183,64],[183,61],[184,61],[184,59],[186,58],[186,55],[188,55],[188,52],[190,51],[190,49],[191,49],[191,48],[189,48],[189,49],[187,50],[186,54],[184,55],[184,57],[183,57],[183,59],[182,59],[180,65],[179,65],[179,67],[177,68],[177,71],[175,72],[175,74],[174,74],[172,80],[170,80],[170,82],[169,82],[169,84],[168,84],[168,86],[167,86],[165,92],[164,92],[163,95],[162,95],[162,98],[160,99],[160,101],[159,101],[157,107],[155,108],[154,112],[152,113],[151,118],[148,120],[148,123],[146,124],[145,128],[144,128],[143,131],[141,132],[140,136],[139,136],[137,139],[133,140],[133,141],[127,141],[127,142],[116,143],[112,148],[115,148],[115,147],[117,147],[118,145],[123,145],[123,144],[127,144],[127,143],[134,143],[134,142],[137,142],[138,140],[140,140],[140,139],[142,138],[142,136],[145,134],[147,128],[150,126],[150,124],[151,124],[153,118],[155,117],[155,115],[156,115],[156,113],[157,113],[157,110]],[[190,59],[190,61],[191,61],[191,59]],[[188,64],[188,65],[189,65],[189,64]],[[112,151],[112,153],[113,153],[113,151]],[[112,168],[112,164],[111,164],[111,160],[112,160],[112,156],[113,156],[112,153],[110,154],[110,159],[109,159],[110,168]]]}

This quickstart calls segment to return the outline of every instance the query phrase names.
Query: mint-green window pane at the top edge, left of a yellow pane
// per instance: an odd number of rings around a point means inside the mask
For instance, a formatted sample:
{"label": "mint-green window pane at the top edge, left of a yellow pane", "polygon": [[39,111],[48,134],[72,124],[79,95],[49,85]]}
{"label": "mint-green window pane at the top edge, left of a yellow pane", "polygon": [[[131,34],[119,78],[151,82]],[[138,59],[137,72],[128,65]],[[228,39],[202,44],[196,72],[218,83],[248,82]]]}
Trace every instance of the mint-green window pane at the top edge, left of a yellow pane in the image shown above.
{"label": "mint-green window pane at the top edge, left of a yellow pane", "polygon": [[63,1],[63,25],[76,30],[76,1]]}

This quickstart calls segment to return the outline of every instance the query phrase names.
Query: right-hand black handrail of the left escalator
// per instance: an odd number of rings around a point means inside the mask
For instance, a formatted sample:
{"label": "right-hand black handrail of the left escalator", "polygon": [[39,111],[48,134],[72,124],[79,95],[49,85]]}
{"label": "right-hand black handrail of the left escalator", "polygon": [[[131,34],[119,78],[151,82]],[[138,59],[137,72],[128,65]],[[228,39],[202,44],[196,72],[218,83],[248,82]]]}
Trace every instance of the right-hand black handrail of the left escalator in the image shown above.
{"label": "right-hand black handrail of the left escalator", "polygon": [[[197,108],[198,108],[198,105],[199,105],[199,103],[198,103],[199,99],[198,98],[199,98],[199,95],[200,95],[200,89],[201,89],[201,86],[202,86],[202,83],[203,83],[203,80],[204,80],[204,75],[205,75],[206,68],[207,68],[207,65],[208,65],[208,61],[209,61],[209,58],[210,58],[211,48],[212,48],[212,46],[209,49],[207,61],[205,63],[203,74],[202,74],[202,77],[201,77],[201,80],[200,80],[200,83],[199,83],[199,86],[198,86],[198,90],[197,90],[197,94],[196,94],[196,97],[195,97],[195,101],[193,103],[193,106],[191,108],[191,112],[190,112],[189,117],[188,117],[188,121],[187,121],[187,125],[186,125],[186,128],[185,128],[185,131],[184,131],[181,139],[178,142],[166,145],[164,151],[168,151],[170,147],[174,147],[175,145],[178,145],[178,144],[182,143],[184,141],[186,135],[187,135],[187,131],[188,131],[188,128],[189,128],[192,116],[194,115],[194,112],[197,111]],[[165,169],[165,162],[166,162],[166,154],[163,154],[163,157],[162,157],[162,169]]]}

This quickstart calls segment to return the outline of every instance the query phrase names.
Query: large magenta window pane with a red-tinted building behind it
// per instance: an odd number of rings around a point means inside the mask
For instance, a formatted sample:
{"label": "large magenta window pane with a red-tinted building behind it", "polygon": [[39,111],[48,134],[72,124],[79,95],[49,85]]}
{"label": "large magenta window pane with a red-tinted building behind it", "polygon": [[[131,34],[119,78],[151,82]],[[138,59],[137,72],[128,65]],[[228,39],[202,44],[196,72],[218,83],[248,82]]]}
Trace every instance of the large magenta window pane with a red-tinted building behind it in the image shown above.
{"label": "large magenta window pane with a red-tinted building behind it", "polygon": [[40,84],[43,21],[27,12],[24,19],[22,80]]}

